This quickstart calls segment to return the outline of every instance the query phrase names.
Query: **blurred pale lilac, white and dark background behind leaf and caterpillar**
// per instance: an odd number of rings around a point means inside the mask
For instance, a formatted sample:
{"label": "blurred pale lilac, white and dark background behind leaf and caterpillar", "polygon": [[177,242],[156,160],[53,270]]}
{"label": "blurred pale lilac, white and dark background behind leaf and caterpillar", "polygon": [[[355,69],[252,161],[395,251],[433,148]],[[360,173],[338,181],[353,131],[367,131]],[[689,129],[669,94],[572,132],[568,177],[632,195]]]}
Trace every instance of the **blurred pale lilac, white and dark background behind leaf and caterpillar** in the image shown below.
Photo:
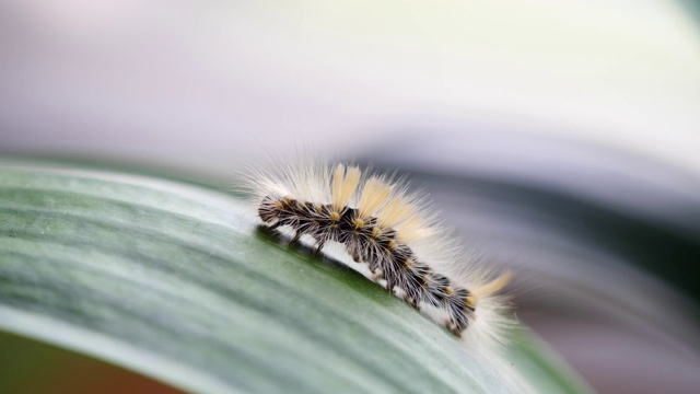
{"label": "blurred pale lilac, white and dark background behind leaf and caterpillar", "polygon": [[[700,386],[699,150],[698,1],[0,3],[0,153],[222,187],[298,152],[398,169],[604,393]],[[168,392],[0,348],[0,391]]]}

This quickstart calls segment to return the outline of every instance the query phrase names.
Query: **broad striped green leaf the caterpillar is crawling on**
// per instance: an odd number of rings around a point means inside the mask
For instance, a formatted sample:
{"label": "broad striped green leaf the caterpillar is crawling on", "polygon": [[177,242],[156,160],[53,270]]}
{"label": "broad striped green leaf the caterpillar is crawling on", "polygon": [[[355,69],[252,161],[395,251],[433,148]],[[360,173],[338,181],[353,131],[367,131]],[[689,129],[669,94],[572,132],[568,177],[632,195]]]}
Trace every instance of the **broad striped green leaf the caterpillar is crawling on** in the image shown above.
{"label": "broad striped green leaf the caterpillar is crawling on", "polygon": [[[442,327],[254,213],[203,186],[0,162],[0,328],[196,392],[506,391]],[[505,357],[539,392],[586,392],[525,329]]]}

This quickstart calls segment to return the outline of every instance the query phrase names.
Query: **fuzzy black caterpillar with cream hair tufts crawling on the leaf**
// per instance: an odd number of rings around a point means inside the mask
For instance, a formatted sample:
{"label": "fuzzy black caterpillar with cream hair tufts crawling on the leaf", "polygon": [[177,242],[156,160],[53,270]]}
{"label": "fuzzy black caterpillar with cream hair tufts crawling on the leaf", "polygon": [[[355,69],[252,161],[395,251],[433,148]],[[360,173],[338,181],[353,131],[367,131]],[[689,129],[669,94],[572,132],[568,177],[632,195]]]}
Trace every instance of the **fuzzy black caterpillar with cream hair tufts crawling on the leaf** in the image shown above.
{"label": "fuzzy black caterpillar with cream hair tufts crawling on the leaf", "polygon": [[249,184],[257,215],[269,229],[288,227],[292,242],[310,236],[315,253],[328,242],[340,243],[355,264],[366,265],[370,279],[455,336],[481,323],[482,339],[501,341],[503,320],[497,316],[503,308],[494,294],[510,274],[489,281],[482,268],[460,264],[450,232],[406,183],[358,166],[306,164],[255,173]]}

